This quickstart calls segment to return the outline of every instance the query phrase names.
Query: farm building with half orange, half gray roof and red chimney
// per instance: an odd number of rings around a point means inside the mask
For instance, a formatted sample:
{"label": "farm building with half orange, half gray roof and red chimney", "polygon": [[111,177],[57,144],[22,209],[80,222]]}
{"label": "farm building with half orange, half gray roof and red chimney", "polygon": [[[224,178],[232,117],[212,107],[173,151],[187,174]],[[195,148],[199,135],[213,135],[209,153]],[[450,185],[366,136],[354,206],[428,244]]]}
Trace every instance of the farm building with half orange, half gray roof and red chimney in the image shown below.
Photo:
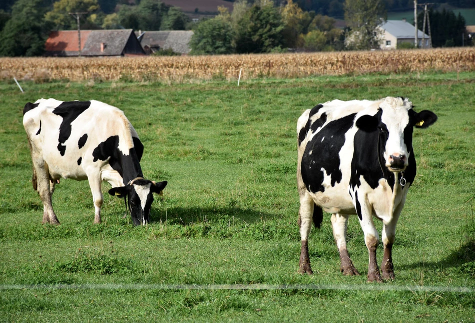
{"label": "farm building with half orange, half gray roof and red chimney", "polygon": [[[78,56],[77,30],[52,31],[46,40],[46,56]],[[145,55],[132,29],[81,30],[82,56]]]}

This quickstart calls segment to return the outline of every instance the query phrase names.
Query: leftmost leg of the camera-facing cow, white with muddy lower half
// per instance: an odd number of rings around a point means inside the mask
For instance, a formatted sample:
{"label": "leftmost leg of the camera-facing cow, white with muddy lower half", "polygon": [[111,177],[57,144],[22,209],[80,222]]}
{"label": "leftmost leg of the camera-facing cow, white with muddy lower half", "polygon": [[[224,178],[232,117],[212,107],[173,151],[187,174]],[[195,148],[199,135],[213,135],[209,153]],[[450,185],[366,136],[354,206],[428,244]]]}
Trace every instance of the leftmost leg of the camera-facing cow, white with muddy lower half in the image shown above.
{"label": "leftmost leg of the camera-facing cow, white with muddy lower half", "polygon": [[312,228],[313,199],[309,194],[300,196],[300,208],[298,211],[298,224],[300,226],[300,240],[302,246],[300,249],[299,272],[313,274],[310,266],[310,256],[308,255],[308,235]]}

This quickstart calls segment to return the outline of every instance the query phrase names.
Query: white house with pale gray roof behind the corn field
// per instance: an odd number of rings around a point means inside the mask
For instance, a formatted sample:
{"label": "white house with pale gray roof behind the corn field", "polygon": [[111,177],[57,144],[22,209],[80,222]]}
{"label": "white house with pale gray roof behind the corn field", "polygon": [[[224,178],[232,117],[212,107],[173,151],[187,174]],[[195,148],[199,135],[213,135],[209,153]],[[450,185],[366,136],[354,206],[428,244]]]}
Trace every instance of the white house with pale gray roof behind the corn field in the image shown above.
{"label": "white house with pale gray roof behind the corn field", "polygon": [[[380,28],[382,36],[381,49],[396,49],[401,43],[414,44],[414,26],[403,20],[387,20]],[[419,48],[430,48],[429,36],[417,30],[417,40]]]}

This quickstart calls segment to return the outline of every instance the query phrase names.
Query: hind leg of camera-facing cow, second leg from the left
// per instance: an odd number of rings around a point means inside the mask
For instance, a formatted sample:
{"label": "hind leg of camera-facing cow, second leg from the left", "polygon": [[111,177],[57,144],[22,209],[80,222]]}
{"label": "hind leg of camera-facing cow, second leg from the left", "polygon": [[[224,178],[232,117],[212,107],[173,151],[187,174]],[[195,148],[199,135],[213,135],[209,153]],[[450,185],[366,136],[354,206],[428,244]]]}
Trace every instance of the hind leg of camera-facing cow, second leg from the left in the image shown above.
{"label": "hind leg of camera-facing cow, second leg from the left", "polygon": [[340,253],[340,270],[344,275],[359,275],[358,270],[353,265],[348,249],[346,248],[346,228],[348,227],[348,215],[333,213],[331,215],[331,226],[333,237]]}

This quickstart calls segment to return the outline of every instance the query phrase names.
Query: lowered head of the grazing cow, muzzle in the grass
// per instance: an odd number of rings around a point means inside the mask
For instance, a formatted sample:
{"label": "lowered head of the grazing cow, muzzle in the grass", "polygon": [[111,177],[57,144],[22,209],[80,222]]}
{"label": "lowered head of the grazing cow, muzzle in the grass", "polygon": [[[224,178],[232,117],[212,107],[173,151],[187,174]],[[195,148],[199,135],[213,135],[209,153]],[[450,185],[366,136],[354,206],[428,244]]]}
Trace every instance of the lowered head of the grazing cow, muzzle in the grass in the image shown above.
{"label": "lowered head of the grazing cow, muzzle in the grass", "polygon": [[153,193],[161,194],[167,186],[167,181],[156,183],[155,181],[137,177],[127,185],[109,189],[109,194],[119,198],[128,196],[129,210],[134,225],[145,225],[150,218],[153,202]]}

